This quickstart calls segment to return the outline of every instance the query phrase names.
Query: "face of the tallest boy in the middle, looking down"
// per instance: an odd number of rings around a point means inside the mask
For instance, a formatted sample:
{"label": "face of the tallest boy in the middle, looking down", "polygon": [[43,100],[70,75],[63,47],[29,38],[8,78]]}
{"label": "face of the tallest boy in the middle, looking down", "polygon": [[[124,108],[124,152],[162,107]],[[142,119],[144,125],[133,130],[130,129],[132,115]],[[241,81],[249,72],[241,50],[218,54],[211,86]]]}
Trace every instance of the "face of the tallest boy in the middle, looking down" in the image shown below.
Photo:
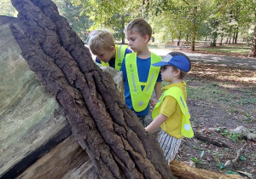
{"label": "face of the tallest boy in the middle, looking down", "polygon": [[148,45],[149,37],[145,35],[144,37],[137,32],[137,30],[128,30],[125,32],[126,38],[128,40],[128,45],[134,52],[141,52]]}

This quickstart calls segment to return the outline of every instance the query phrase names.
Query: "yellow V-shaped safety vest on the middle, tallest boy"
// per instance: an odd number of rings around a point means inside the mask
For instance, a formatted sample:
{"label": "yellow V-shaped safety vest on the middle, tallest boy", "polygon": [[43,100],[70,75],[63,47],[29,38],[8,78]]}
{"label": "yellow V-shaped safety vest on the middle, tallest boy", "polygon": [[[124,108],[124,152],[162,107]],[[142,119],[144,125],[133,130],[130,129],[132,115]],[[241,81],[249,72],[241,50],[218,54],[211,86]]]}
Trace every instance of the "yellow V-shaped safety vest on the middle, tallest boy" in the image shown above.
{"label": "yellow V-shaped safety vest on the middle, tallest boy", "polygon": [[[125,67],[131,92],[131,102],[136,112],[141,112],[148,107],[148,102],[154,90],[154,84],[160,72],[160,66],[152,66],[152,64],[161,61],[161,59],[160,56],[151,53],[151,66],[148,72],[148,79],[146,83],[143,83],[139,81],[138,77],[137,54],[132,53],[125,56]],[[141,86],[145,86],[143,91]]]}

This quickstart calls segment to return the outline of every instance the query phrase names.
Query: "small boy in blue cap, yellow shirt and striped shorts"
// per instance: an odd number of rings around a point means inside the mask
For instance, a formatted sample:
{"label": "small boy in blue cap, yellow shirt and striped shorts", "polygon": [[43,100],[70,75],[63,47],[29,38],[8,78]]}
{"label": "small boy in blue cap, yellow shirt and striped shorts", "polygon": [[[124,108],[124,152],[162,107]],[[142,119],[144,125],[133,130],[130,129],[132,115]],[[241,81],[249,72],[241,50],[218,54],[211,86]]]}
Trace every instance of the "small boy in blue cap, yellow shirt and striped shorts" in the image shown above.
{"label": "small boy in blue cap, yellow shirt and striped shorts", "polygon": [[191,65],[187,55],[181,52],[171,52],[153,66],[161,66],[162,80],[170,84],[164,87],[164,93],[152,112],[154,120],[145,130],[152,132],[158,127],[161,128],[158,141],[170,164],[175,158],[183,136],[189,138],[194,136],[186,104],[186,83],[183,81]]}

